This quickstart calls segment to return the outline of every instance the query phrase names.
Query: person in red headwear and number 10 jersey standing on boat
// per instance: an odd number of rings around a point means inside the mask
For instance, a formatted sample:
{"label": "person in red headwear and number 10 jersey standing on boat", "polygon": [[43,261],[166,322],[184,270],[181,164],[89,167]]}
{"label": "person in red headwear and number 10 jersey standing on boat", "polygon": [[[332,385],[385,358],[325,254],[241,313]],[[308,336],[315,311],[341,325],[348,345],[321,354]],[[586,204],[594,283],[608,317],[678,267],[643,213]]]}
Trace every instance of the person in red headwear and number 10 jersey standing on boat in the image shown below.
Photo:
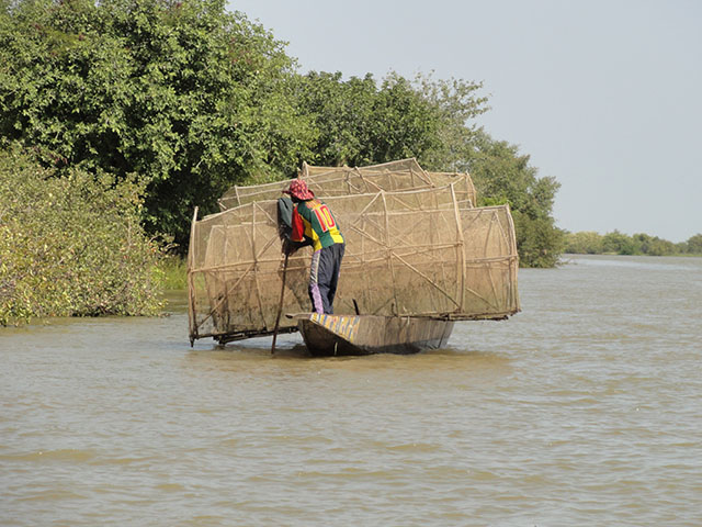
{"label": "person in red headwear and number 10 jersey standing on boat", "polygon": [[317,200],[302,179],[294,180],[283,192],[290,194],[294,203],[291,242],[284,243],[283,250],[293,254],[306,239],[312,240],[309,299],[313,312],[333,314],[333,298],[346,248],[339,225],[329,206]]}

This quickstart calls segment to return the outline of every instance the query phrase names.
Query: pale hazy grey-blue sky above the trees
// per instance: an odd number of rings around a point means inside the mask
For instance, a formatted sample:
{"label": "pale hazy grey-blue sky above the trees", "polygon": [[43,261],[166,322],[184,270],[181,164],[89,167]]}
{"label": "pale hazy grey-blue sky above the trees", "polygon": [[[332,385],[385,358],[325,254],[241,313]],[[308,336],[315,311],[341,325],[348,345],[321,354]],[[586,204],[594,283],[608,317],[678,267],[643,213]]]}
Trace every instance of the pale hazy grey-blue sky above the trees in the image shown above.
{"label": "pale hazy grey-blue sky above the trees", "polygon": [[702,233],[702,1],[230,0],[301,72],[483,81],[569,231]]}

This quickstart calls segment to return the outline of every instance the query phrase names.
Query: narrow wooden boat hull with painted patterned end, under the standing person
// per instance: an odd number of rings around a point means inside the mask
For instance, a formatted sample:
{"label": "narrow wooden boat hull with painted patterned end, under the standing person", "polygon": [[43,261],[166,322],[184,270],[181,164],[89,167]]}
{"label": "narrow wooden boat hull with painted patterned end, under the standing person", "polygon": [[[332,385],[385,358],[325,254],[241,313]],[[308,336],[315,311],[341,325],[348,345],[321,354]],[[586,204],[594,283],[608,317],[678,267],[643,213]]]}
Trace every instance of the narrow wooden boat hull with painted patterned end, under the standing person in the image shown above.
{"label": "narrow wooden boat hull with painted patterned end, under the standing person", "polygon": [[412,316],[295,315],[299,333],[315,357],[417,354],[444,347],[452,321]]}

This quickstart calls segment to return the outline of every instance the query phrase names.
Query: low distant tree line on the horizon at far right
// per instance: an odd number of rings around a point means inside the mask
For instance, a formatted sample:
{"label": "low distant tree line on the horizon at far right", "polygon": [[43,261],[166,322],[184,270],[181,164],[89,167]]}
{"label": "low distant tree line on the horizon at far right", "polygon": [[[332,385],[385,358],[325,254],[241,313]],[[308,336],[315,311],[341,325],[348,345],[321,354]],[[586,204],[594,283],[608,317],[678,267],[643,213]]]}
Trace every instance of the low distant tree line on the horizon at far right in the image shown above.
{"label": "low distant tree line on the horizon at far right", "polygon": [[629,236],[612,231],[604,235],[595,232],[565,234],[565,253],[579,255],[702,255],[702,234],[691,236],[687,242],[673,244],[658,236],[634,234]]}

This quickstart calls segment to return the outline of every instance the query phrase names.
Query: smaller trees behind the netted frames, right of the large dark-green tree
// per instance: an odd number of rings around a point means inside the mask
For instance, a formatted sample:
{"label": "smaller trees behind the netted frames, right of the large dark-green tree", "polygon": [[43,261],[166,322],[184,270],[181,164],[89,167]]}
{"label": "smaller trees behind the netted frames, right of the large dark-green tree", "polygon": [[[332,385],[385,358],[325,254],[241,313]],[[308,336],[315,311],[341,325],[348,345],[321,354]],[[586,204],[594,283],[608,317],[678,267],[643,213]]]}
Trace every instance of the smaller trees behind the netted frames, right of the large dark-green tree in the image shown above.
{"label": "smaller trees behind the netted frames, right of the large dark-green tree", "polygon": [[494,141],[471,123],[486,111],[479,83],[390,74],[378,86],[371,75],[344,81],[341,74],[310,72],[297,85],[301,113],[314,121],[313,162],[362,166],[416,157],[435,170],[468,170],[482,205],[509,203],[514,212],[521,264],[552,267],[562,233],[552,217],[558,190],[537,178],[529,156]]}

